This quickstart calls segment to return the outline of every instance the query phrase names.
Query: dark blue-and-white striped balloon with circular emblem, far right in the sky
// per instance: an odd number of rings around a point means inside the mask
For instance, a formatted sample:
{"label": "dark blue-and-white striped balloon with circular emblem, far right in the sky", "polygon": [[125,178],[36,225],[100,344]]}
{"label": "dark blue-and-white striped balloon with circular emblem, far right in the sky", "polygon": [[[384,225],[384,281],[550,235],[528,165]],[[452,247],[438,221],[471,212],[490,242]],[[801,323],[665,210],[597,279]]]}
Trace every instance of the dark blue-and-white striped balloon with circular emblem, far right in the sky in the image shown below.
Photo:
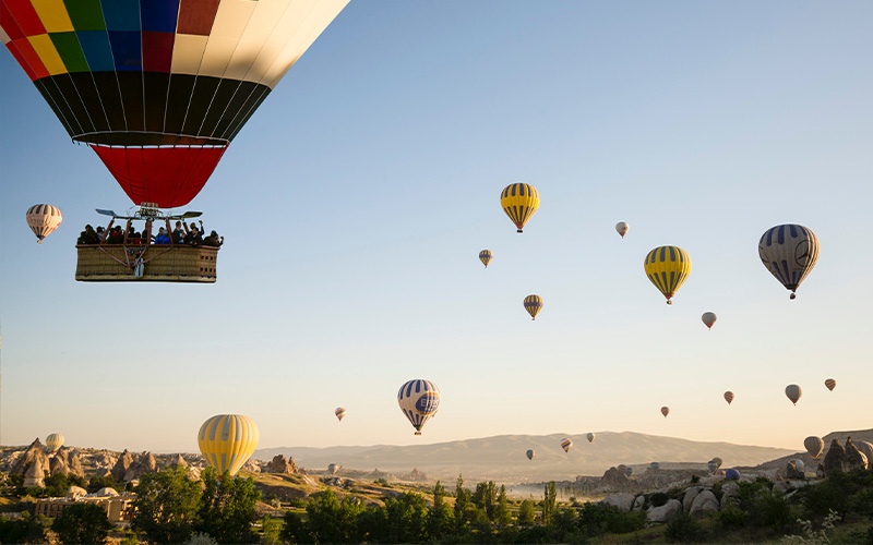
{"label": "dark blue-and-white striped balloon with circular emblem, far right in the sky", "polygon": [[757,253],[767,270],[794,299],[798,287],[818,261],[818,238],[810,229],[787,223],[768,229],[761,235]]}

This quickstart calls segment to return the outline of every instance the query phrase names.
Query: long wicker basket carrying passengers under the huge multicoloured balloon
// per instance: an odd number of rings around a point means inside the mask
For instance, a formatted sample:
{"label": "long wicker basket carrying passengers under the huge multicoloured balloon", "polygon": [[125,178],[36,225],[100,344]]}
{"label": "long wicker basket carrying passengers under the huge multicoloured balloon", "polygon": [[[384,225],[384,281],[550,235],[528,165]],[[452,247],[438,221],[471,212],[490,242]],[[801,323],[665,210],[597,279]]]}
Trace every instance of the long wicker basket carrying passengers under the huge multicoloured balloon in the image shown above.
{"label": "long wicker basket carrying passengers under the huge multicoloured balloon", "polygon": [[[80,282],[206,282],[216,279],[217,247],[151,244],[77,245],[75,279]],[[143,272],[133,264],[142,255]]]}

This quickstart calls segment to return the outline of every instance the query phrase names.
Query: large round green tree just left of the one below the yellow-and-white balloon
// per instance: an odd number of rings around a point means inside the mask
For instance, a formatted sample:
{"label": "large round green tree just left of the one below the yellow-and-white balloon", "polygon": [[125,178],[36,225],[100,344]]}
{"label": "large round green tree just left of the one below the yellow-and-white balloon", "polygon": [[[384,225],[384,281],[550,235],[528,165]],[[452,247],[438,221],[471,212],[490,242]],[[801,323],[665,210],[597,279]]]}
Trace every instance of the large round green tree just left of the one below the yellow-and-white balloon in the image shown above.
{"label": "large round green tree just left of the one below the yellow-and-white balloon", "polygon": [[191,537],[200,507],[200,483],[184,468],[146,473],[136,487],[131,526],[152,543],[183,543]]}

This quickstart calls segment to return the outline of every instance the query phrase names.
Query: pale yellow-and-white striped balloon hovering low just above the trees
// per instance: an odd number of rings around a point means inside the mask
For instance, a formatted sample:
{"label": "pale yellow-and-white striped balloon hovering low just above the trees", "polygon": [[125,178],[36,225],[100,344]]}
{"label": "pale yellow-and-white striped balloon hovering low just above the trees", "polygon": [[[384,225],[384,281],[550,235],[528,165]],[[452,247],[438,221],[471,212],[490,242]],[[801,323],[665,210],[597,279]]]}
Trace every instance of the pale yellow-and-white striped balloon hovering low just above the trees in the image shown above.
{"label": "pale yellow-and-white striped balloon hovering low just above the trees", "polygon": [[224,475],[237,474],[258,448],[258,426],[241,414],[217,414],[200,426],[198,446],[206,463]]}

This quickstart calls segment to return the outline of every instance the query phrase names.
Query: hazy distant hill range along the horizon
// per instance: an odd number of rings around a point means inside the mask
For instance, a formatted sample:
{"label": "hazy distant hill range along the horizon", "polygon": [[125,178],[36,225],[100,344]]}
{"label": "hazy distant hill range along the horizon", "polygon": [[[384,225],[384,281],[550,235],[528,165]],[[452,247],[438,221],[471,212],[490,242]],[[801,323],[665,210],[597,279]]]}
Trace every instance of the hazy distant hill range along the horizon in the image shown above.
{"label": "hazy distant hill range along the horizon", "polygon": [[[574,448],[564,453],[560,443],[571,437]],[[527,449],[535,457],[528,461]],[[790,449],[704,443],[633,432],[600,432],[589,444],[585,435],[499,435],[433,445],[371,447],[279,447],[254,451],[253,458],[270,460],[276,455],[294,457],[301,468],[320,470],[331,463],[356,470],[408,473],[418,468],[431,477],[454,479],[463,473],[473,481],[492,479],[504,483],[574,480],[576,475],[602,475],[612,465],[624,463],[642,472],[649,462],[670,462],[670,467],[705,468],[713,457],[725,467],[756,465],[791,455]]]}

